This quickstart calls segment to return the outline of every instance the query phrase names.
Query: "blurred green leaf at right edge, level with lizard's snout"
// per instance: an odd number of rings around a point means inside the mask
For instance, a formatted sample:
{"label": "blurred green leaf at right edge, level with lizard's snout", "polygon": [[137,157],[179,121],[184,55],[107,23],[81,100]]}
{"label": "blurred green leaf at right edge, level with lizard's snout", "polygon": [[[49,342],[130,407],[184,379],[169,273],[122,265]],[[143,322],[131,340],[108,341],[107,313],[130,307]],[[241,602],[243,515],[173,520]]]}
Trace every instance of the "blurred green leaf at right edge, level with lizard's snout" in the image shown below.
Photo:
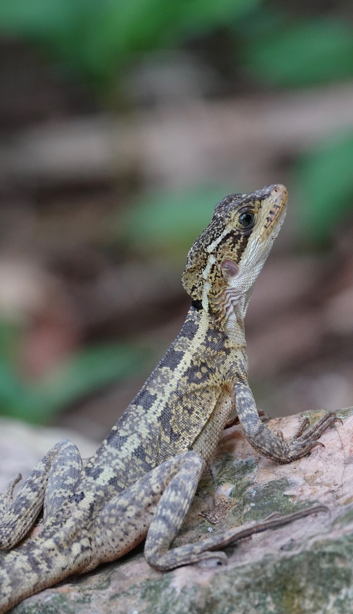
{"label": "blurred green leaf at right edge, level with lizard's snout", "polygon": [[353,209],[353,134],[330,139],[300,160],[297,219],[310,243],[324,243]]}

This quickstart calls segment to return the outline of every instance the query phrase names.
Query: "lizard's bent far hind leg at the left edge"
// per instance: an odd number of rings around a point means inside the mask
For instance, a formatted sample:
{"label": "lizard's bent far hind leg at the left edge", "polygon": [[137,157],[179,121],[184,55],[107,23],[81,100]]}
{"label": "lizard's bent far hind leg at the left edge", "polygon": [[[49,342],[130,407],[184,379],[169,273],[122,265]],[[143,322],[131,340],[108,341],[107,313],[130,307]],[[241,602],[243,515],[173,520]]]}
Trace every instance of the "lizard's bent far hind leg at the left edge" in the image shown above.
{"label": "lizard's bent far hind leg at the left edge", "polygon": [[37,462],[13,499],[18,474],[0,497],[0,550],[13,548],[33,527],[44,505],[44,522],[70,494],[81,471],[80,454],[68,439],[56,443]]}

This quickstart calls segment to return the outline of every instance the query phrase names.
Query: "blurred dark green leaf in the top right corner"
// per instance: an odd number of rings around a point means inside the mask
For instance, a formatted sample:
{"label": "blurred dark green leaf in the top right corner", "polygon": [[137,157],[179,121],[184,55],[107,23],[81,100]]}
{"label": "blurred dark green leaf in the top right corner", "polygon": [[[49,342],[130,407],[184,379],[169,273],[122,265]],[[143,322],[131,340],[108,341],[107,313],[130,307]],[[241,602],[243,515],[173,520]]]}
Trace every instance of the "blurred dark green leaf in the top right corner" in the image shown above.
{"label": "blurred dark green leaf in the top right corner", "polygon": [[[353,75],[353,28],[337,18],[265,18],[261,28],[250,24],[244,60],[263,81],[281,86],[311,85]],[[254,36],[255,31],[257,36]],[[251,36],[250,36],[251,34]]]}

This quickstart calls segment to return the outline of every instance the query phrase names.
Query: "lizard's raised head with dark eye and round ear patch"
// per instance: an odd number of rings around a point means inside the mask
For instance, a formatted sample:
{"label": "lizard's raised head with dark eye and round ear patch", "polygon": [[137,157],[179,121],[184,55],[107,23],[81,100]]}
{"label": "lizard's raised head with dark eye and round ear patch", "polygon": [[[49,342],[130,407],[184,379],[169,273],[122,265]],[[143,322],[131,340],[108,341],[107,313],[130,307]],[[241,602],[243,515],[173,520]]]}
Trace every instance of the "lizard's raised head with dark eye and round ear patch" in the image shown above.
{"label": "lizard's raised head with dark eye and round ear patch", "polygon": [[284,221],[287,197],[284,185],[267,185],[226,196],[215,206],[211,223],[188,253],[182,278],[195,306],[227,317],[230,303],[233,311],[238,301],[244,315]]}

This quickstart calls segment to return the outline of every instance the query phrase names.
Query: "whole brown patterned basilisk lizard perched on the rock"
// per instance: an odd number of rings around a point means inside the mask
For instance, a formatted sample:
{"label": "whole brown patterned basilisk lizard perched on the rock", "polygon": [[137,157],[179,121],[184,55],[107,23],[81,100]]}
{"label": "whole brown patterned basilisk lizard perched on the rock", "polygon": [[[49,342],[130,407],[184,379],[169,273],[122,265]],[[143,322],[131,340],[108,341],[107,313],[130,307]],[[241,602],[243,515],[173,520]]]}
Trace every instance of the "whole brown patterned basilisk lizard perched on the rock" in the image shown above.
{"label": "whole brown patterned basilisk lizard perched on the rock", "polygon": [[82,467],[69,440],[54,446],[12,500],[0,499],[0,547],[14,548],[39,512],[44,526],[1,561],[0,613],[72,573],[113,561],[146,538],[159,570],[216,558],[241,537],[325,508],[169,550],[223,428],[235,409],[244,434],[276,462],[299,459],[337,420],[325,413],[285,440],[258,418],[247,383],[244,316],[255,279],[285,217],[287,190],[270,185],[217,204],[187,257],[183,284],[192,306],[176,340],[102,445]]}

